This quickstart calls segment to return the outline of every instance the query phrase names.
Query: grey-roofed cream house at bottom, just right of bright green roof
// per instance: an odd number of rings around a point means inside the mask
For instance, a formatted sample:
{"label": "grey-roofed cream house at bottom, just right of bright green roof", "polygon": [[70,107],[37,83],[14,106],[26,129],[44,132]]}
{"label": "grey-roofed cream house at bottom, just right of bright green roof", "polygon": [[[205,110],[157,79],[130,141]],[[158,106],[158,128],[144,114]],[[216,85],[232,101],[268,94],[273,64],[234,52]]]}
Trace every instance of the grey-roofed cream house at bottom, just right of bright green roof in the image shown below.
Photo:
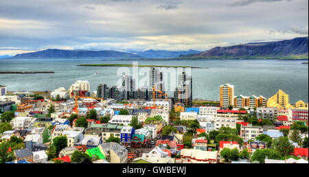
{"label": "grey-roofed cream house at bottom, just right of bright green roof", "polygon": [[102,143],[99,146],[102,154],[110,163],[127,163],[128,150],[118,143]]}

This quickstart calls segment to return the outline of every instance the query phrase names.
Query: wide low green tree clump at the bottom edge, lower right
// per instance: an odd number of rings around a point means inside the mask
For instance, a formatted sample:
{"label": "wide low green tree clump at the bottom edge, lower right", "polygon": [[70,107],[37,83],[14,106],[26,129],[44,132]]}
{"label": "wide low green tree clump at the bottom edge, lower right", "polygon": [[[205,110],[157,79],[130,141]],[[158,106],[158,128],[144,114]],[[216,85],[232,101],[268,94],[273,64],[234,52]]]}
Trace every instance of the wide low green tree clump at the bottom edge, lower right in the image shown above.
{"label": "wide low green tree clump at the bottom edge, lower right", "polygon": [[271,149],[263,149],[263,150],[255,150],[253,155],[251,156],[251,161],[259,161],[260,163],[265,162],[265,158],[280,160],[282,156],[279,152]]}

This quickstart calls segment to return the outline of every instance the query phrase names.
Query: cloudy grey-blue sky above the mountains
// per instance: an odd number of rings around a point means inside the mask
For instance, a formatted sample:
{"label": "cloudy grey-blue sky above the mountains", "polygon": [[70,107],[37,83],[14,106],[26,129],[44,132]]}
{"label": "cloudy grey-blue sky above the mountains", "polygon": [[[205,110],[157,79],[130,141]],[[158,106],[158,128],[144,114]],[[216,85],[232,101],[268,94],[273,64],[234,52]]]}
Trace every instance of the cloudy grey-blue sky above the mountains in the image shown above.
{"label": "cloudy grey-blue sky above the mountains", "polygon": [[0,56],[41,49],[207,50],[308,36],[308,0],[0,1]]}

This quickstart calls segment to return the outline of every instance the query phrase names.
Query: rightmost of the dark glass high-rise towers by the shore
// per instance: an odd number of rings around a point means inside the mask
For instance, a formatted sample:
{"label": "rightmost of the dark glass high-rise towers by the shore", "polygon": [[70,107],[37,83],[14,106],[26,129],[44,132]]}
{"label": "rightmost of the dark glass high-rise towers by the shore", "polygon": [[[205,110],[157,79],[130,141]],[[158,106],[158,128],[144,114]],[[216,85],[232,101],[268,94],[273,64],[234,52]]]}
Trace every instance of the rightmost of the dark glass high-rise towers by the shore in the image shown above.
{"label": "rightmost of the dark glass high-rise towers by the shore", "polygon": [[192,76],[185,72],[178,76],[178,87],[174,91],[174,102],[192,106]]}

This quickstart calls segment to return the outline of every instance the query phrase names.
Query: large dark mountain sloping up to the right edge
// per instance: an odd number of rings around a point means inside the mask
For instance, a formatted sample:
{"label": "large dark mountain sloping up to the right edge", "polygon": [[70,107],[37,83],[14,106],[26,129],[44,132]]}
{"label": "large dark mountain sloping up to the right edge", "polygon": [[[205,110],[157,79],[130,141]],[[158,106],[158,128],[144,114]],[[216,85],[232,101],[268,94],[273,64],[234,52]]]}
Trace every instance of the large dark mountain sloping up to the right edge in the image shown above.
{"label": "large dark mountain sloping up to the right edge", "polygon": [[248,43],[229,47],[214,47],[199,54],[180,58],[304,58],[308,59],[308,37],[268,43]]}

